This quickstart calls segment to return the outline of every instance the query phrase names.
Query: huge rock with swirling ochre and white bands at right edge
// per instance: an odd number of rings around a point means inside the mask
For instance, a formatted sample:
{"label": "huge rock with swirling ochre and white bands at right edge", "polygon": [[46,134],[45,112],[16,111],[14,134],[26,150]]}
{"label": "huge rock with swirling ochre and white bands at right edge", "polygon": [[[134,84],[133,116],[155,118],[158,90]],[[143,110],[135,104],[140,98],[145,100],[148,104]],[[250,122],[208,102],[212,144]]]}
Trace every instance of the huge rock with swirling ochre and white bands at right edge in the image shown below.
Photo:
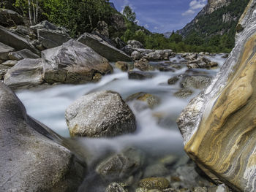
{"label": "huge rock with swirling ochre and white bands at right edge", "polygon": [[212,179],[255,191],[256,0],[241,16],[236,47],[206,91],[178,118],[185,150]]}

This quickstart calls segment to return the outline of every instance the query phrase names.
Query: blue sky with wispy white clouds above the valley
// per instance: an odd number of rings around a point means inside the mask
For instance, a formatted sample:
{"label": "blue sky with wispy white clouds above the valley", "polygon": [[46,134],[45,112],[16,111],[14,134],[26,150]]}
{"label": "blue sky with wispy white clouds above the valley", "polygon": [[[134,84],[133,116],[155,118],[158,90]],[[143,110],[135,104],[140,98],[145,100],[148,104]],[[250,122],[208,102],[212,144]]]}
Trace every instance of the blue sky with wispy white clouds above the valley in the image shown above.
{"label": "blue sky with wispy white clouds above the valley", "polygon": [[189,23],[207,0],[110,0],[119,12],[129,5],[140,26],[158,33],[176,31]]}

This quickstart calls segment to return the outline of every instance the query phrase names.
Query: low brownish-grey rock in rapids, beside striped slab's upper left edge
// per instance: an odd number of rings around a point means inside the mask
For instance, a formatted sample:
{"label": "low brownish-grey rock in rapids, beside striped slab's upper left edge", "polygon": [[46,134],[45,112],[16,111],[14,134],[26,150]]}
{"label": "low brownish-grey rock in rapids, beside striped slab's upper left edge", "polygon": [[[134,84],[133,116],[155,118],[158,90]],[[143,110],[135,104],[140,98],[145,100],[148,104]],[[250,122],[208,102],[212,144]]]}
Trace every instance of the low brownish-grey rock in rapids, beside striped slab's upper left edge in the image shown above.
{"label": "low brownish-grey rock in rapids, beside striped slab's upper left edge", "polygon": [[204,89],[211,83],[210,77],[205,76],[185,76],[181,81],[182,88]]}

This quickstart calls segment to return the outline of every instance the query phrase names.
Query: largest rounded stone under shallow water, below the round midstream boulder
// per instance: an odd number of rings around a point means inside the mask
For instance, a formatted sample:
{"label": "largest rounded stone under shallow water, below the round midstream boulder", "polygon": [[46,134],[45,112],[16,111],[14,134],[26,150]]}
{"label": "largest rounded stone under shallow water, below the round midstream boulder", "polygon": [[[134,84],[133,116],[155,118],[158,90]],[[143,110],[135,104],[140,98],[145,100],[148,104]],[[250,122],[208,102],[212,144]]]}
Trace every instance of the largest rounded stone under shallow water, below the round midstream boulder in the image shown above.
{"label": "largest rounded stone under shallow water, below the round midstream boulder", "polygon": [[140,150],[127,148],[116,155],[111,155],[96,167],[97,174],[113,180],[129,177],[144,164],[144,155]]}

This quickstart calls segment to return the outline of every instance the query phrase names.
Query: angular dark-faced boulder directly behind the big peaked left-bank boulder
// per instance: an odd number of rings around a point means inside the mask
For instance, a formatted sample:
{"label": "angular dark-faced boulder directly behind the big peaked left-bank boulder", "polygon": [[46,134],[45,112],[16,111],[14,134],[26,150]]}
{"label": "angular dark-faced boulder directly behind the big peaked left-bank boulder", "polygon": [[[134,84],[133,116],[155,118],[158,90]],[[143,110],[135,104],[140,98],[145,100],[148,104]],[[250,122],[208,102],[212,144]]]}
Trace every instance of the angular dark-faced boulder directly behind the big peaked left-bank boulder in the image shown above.
{"label": "angular dark-faced boulder directly behind the big peaked left-bank boulder", "polygon": [[42,42],[42,46],[47,49],[58,47],[71,39],[65,28],[59,28],[47,20],[36,26],[31,26],[31,28],[37,30],[37,38]]}

